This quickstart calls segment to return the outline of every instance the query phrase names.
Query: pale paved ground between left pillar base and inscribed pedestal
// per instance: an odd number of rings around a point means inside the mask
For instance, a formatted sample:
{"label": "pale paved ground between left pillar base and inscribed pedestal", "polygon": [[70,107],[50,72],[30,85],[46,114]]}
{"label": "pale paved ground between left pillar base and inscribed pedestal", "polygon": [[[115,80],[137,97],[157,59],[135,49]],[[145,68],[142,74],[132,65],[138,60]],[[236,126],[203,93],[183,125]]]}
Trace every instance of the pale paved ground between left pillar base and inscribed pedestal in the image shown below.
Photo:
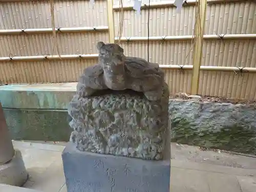
{"label": "pale paved ground between left pillar base and inscribed pedestal", "polygon": [[14,148],[22,152],[29,173],[28,181],[23,187],[42,192],[60,192],[60,188],[65,184],[61,160],[64,147],[45,144],[44,141],[41,143],[13,141],[13,144]]}

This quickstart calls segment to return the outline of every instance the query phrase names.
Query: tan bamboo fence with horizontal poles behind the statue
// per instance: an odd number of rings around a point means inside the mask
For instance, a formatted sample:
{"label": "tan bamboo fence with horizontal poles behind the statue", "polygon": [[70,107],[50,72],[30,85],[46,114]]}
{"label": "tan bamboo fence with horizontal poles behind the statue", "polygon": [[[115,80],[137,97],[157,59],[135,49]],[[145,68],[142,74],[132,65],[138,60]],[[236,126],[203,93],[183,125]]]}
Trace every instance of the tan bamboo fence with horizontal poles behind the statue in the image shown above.
{"label": "tan bamboo fence with horizontal poles behind the statue", "polygon": [[[171,1],[142,1],[137,16],[123,1],[120,46],[158,62],[172,94],[256,100],[256,3],[199,2],[184,1],[176,13]],[[97,62],[98,41],[119,39],[119,0],[57,0],[54,10],[46,0],[2,0],[0,11],[0,84],[76,81]]]}

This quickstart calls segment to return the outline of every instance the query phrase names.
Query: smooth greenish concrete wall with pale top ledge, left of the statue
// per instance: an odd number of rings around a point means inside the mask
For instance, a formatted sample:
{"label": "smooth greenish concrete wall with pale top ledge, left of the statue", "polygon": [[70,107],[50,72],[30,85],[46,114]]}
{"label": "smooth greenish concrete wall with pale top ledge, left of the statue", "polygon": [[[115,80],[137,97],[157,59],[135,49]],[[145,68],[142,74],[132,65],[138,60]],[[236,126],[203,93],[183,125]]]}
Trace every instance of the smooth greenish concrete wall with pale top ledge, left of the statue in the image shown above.
{"label": "smooth greenish concrete wall with pale top ledge, left of the statue", "polygon": [[12,139],[69,141],[67,104],[75,90],[75,82],[0,86]]}

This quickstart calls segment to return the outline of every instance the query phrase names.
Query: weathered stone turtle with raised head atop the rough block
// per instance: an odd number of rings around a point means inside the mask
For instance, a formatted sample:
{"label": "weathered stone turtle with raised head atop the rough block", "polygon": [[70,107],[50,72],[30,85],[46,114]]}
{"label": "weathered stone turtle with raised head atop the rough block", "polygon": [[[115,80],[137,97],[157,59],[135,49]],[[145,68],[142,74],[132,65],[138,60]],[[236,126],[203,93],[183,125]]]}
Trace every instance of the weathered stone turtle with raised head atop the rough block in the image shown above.
{"label": "weathered stone turtle with raised head atop the rough block", "polygon": [[126,57],[117,44],[98,42],[99,63],[83,71],[77,85],[78,95],[90,96],[97,90],[131,89],[143,92],[148,100],[162,96],[164,73],[156,63]]}

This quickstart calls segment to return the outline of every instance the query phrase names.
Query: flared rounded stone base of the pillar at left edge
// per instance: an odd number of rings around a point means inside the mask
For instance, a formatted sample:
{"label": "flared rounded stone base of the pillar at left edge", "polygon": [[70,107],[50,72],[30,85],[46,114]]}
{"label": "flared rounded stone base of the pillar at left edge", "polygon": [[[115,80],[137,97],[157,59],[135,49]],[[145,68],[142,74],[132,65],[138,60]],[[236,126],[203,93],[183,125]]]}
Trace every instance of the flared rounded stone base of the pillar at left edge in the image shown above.
{"label": "flared rounded stone base of the pillar at left edge", "polygon": [[16,150],[11,161],[0,165],[0,183],[22,186],[28,179],[28,173],[23,162],[22,154]]}

